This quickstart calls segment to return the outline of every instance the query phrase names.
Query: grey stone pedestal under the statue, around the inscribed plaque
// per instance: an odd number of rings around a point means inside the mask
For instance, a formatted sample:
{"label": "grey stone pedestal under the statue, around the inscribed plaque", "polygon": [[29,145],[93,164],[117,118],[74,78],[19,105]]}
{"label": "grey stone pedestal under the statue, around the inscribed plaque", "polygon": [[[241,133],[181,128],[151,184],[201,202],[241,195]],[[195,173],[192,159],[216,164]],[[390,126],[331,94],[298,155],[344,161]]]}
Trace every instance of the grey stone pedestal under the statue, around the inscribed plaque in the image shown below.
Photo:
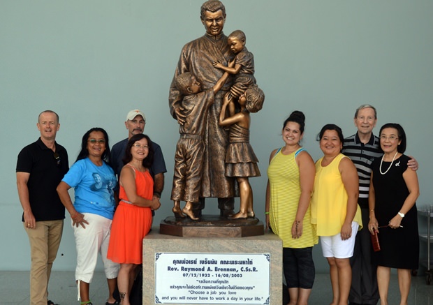
{"label": "grey stone pedestal under the statue, around the inscribed plaque", "polygon": [[[155,253],[270,253],[270,302],[282,304],[282,241],[272,233],[254,237],[175,237],[152,231],[143,239],[143,304],[160,304],[155,302]],[[267,283],[263,283],[267,285]],[[179,304],[179,303],[164,303]],[[210,305],[216,303],[196,303]],[[223,303],[229,304],[229,303]],[[230,303],[232,304],[232,303]],[[235,302],[233,304],[246,304]],[[251,304],[251,303],[249,303]],[[257,303],[255,303],[257,304]]]}

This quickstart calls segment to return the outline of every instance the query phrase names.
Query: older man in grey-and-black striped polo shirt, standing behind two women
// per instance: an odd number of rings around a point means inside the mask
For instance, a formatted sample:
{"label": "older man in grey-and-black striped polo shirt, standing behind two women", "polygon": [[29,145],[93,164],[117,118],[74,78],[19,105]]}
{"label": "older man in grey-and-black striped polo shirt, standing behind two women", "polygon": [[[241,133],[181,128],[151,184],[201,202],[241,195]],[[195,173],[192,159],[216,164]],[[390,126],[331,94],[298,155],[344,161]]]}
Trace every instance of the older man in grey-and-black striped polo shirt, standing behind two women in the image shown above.
{"label": "older man in grey-and-black striped polo shirt, standing behind two women", "polygon": [[[358,170],[359,198],[358,204],[362,213],[364,228],[358,232],[355,248],[351,258],[352,284],[348,297],[349,305],[374,304],[379,302],[376,267],[372,265],[372,241],[367,228],[369,223],[368,194],[372,162],[374,158],[382,156],[379,137],[373,135],[373,128],[377,122],[376,108],[372,105],[361,105],[355,112],[353,119],[358,132],[344,139],[342,153],[351,158]],[[418,169],[418,163],[411,159],[408,163],[412,170]]]}

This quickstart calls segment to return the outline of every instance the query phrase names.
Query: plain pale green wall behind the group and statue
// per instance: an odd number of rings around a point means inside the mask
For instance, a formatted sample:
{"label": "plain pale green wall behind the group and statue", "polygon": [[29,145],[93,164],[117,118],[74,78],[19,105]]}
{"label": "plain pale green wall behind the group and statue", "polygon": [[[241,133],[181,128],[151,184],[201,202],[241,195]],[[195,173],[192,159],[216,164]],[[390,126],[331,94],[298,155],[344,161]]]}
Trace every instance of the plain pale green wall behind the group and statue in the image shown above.
{"label": "plain pale green wall behind the group and statue", "polygon": [[[161,144],[168,167],[155,223],[172,215],[178,128],[168,111],[168,88],[182,46],[204,34],[203,1],[0,0],[0,269],[29,269],[15,163],[20,149],[38,137],[36,118],[46,109],[60,115],[57,140],[71,163],[89,128],[105,128],[112,144],[126,137],[126,113],[143,110],[145,133]],[[420,163],[418,205],[433,203],[433,1],[224,3],[226,34],[247,34],[266,94],[263,110],[251,115],[251,144],[263,174],[251,179],[259,218],[267,160],[283,143],[288,114],[302,110],[307,116],[304,146],[317,159],[321,126],[335,123],[344,135],[353,134],[353,113],[362,103],[377,107],[376,132],[388,121],[404,126],[407,153]],[[209,200],[205,214],[216,213],[214,206]],[[318,271],[327,270],[319,246],[314,253]],[[66,223],[54,269],[74,267],[75,244]]]}

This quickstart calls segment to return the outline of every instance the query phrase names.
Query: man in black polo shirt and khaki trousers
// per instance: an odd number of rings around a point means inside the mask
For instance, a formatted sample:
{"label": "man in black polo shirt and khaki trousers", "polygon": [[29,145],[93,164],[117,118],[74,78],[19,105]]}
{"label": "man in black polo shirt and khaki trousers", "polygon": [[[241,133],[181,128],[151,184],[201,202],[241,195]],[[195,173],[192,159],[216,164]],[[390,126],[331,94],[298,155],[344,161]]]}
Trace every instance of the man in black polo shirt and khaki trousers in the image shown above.
{"label": "man in black polo shirt and khaki trousers", "polygon": [[52,262],[59,249],[65,208],[57,185],[68,172],[66,149],[55,142],[59,116],[46,110],[38,117],[41,137],[18,155],[17,188],[22,221],[30,241],[30,304],[54,304],[47,299]]}

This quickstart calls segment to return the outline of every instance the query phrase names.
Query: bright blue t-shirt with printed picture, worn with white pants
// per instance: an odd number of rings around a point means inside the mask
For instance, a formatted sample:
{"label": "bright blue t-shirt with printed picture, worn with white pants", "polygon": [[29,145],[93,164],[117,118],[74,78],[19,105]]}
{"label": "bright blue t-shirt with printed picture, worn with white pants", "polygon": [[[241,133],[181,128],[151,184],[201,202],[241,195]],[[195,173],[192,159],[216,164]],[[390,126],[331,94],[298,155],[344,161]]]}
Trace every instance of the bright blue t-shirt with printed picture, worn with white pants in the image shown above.
{"label": "bright blue t-shirt with printed picture, worn with white pants", "polygon": [[97,166],[85,158],[75,162],[62,179],[74,188],[74,207],[80,213],[91,213],[112,219],[115,212],[113,189],[115,172],[103,163]]}

